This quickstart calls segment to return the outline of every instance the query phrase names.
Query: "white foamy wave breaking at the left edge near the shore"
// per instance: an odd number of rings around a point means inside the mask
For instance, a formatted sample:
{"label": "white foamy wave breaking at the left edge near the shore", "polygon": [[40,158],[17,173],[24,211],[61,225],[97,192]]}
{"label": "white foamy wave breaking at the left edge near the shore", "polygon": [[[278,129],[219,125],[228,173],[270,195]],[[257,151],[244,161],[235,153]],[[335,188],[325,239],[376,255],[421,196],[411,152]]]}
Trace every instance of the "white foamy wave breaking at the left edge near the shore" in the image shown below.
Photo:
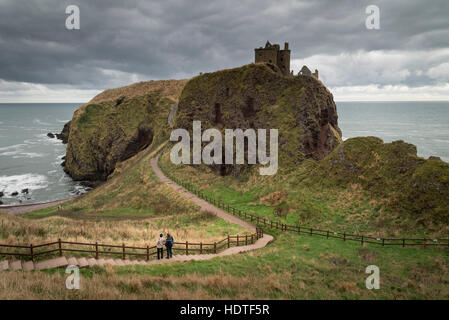
{"label": "white foamy wave breaking at the left edge near the shore", "polygon": [[47,177],[41,174],[25,173],[13,176],[0,176],[0,191],[5,198],[12,197],[11,193],[20,192],[23,189],[33,190],[48,187]]}

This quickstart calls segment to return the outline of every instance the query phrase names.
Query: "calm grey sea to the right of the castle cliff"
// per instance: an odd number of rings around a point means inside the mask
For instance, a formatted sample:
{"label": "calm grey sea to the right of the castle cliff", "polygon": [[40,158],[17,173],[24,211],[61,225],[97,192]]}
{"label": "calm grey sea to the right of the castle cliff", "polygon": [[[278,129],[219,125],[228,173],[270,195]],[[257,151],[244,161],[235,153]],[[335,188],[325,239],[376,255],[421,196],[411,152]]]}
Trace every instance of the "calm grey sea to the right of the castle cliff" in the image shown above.
{"label": "calm grey sea to the right of the castle cliff", "polygon": [[449,102],[337,102],[343,140],[376,136],[404,140],[418,155],[449,162]]}

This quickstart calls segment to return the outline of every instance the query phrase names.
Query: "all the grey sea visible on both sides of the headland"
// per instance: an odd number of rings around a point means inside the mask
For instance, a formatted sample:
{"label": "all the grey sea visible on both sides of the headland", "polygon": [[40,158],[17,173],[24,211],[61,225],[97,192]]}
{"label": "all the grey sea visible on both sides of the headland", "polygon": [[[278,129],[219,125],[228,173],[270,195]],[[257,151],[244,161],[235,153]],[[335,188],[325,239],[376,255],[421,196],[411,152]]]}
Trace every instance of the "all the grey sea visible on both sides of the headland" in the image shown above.
{"label": "all the grey sea visible on both sides of the headland", "polygon": [[[422,157],[449,162],[449,102],[337,102],[346,140],[376,136],[404,140]],[[66,199],[89,190],[61,166],[64,145],[47,133],[59,133],[81,103],[0,104],[0,198],[3,205]],[[28,194],[21,191],[28,189]],[[18,196],[12,193],[18,192]]]}

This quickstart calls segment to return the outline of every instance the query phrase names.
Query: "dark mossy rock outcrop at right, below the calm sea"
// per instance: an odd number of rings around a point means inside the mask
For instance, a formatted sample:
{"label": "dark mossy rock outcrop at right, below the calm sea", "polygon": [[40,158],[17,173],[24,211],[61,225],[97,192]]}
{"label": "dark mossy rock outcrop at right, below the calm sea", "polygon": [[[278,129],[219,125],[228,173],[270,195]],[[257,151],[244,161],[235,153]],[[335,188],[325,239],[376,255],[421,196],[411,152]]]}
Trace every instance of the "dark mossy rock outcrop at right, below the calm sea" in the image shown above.
{"label": "dark mossy rock outcrop at right, below the calm sea", "polygon": [[449,220],[449,164],[418,157],[416,146],[404,141],[348,139],[308,179],[329,187],[357,184],[373,199],[388,199],[388,206],[399,212],[429,213],[435,223]]}

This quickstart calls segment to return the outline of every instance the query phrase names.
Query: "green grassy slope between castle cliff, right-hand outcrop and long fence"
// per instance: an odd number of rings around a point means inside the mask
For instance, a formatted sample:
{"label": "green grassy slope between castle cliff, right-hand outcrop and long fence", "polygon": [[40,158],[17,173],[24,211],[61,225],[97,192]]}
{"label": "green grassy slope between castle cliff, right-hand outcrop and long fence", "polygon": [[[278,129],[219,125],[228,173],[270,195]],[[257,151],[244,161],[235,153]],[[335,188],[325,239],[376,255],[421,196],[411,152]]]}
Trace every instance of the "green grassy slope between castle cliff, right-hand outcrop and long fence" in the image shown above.
{"label": "green grassy slope between castle cliff, right-hand outcrop and long fence", "polygon": [[331,184],[318,165],[307,160],[295,171],[273,177],[252,172],[234,178],[219,176],[203,165],[175,166],[168,153],[160,160],[164,172],[208,197],[281,223],[376,237],[447,238],[447,224],[432,220],[432,214],[403,212],[390,206],[393,200],[375,196],[357,183]]}

